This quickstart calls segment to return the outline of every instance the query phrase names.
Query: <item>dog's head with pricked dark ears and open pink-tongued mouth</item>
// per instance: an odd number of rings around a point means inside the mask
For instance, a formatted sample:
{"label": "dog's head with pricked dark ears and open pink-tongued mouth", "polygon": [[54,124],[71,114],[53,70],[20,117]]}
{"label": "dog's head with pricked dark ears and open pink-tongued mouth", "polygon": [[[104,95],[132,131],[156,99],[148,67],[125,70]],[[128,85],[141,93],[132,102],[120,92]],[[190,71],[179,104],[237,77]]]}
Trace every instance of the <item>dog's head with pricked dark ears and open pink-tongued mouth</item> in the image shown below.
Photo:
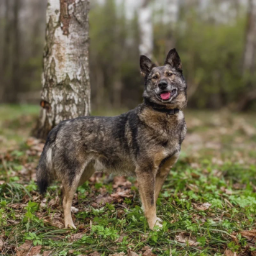
{"label": "dog's head with pricked dark ears and open pink-tongued mouth", "polygon": [[144,99],[168,109],[183,109],[187,104],[187,85],[180,57],[175,49],[168,53],[165,65],[157,67],[145,55],[140,56],[140,69],[145,77]]}

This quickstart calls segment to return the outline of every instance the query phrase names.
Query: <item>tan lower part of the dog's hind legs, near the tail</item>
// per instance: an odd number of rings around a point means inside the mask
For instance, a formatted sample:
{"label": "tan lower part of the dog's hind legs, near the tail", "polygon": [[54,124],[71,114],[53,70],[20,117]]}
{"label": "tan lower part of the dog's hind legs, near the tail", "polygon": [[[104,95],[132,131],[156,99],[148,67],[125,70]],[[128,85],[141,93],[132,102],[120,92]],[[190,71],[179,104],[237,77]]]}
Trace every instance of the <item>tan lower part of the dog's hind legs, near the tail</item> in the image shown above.
{"label": "tan lower part of the dog's hind legs, near the tail", "polygon": [[66,183],[63,180],[63,210],[64,223],[66,228],[73,227],[74,229],[76,229],[76,226],[73,223],[73,219],[71,216],[73,196],[76,193],[76,188],[78,188],[78,186],[81,186],[86,180],[88,180],[88,178],[90,178],[93,173],[93,166],[89,164],[86,166],[86,168],[83,168],[83,170],[81,170],[81,172],[77,174],[75,178],[73,178],[71,185],[70,183]]}

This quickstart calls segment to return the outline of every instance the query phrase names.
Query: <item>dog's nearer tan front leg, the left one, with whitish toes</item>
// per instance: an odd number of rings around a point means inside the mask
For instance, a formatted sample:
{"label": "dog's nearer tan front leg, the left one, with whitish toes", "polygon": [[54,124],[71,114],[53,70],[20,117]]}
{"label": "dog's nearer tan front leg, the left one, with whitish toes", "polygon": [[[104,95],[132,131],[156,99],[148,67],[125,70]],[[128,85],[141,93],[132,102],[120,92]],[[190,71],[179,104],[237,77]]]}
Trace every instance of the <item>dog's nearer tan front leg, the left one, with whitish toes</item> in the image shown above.
{"label": "dog's nearer tan front leg, the left one, with whitish toes", "polygon": [[155,226],[162,227],[156,214],[155,206],[155,172],[137,168],[137,180],[139,185],[142,208],[150,229]]}

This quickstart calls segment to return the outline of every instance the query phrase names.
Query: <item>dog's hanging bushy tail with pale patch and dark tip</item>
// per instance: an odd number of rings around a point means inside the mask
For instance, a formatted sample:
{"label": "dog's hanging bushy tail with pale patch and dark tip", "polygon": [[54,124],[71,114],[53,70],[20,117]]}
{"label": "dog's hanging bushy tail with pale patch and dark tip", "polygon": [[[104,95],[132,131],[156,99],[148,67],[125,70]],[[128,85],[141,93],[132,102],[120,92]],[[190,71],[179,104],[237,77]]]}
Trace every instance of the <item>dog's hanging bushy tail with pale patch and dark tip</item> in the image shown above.
{"label": "dog's hanging bushy tail with pale patch and dark tip", "polygon": [[47,137],[37,166],[37,186],[42,195],[46,192],[47,187],[50,186],[50,182],[54,176],[52,170],[52,148],[55,144],[55,136],[52,136],[52,133],[54,133],[54,129],[52,129]]}

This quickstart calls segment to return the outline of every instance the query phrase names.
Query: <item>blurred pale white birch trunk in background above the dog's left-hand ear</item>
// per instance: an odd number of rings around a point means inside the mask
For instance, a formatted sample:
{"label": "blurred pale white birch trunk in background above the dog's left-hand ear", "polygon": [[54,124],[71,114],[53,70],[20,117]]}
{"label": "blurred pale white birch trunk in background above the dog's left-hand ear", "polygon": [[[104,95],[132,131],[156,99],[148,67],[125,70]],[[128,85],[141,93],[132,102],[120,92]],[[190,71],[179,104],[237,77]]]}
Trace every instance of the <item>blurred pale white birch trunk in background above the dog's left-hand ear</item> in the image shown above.
{"label": "blurred pale white birch trunk in background above the dog's left-hand ear", "polygon": [[150,9],[150,0],[142,0],[139,10],[140,24],[140,54],[152,58],[153,50],[153,27],[152,11]]}

